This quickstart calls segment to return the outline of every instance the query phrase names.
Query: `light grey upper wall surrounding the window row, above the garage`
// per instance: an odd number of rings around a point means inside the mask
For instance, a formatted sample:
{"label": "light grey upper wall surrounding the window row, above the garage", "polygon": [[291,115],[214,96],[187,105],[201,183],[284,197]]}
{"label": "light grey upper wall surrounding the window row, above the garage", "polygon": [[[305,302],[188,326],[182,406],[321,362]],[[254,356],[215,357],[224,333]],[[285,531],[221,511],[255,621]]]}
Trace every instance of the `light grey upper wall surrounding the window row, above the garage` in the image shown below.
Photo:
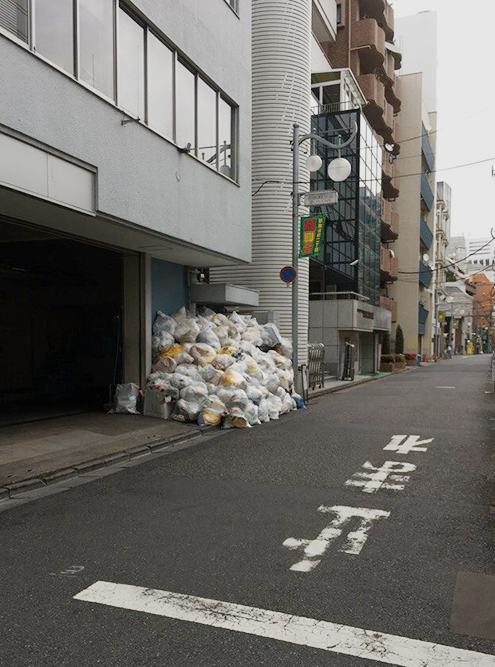
{"label": "light grey upper wall surrounding the window row, above the garage", "polygon": [[97,214],[241,261],[251,257],[251,15],[223,0],[135,5],[239,105],[240,187],[0,35],[0,130],[97,169]]}

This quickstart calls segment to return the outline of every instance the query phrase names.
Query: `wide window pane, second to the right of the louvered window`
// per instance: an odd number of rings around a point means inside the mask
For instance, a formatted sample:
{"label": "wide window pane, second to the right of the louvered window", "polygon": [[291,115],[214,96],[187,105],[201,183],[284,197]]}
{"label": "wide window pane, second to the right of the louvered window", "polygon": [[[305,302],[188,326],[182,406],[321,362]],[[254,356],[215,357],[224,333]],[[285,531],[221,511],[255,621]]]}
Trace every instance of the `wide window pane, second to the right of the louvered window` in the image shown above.
{"label": "wide window pane, second to the right of the louvered window", "polygon": [[80,78],[114,99],[114,2],[79,0]]}

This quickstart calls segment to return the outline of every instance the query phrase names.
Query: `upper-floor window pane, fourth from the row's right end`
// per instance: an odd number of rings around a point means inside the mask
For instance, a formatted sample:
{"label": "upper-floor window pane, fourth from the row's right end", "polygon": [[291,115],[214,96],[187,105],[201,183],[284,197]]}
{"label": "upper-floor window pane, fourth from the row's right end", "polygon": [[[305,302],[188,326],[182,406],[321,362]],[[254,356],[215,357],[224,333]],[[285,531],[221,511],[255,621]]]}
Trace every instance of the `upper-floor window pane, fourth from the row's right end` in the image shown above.
{"label": "upper-floor window pane, fourth from the row's right end", "polygon": [[173,139],[174,54],[148,33],[148,125]]}

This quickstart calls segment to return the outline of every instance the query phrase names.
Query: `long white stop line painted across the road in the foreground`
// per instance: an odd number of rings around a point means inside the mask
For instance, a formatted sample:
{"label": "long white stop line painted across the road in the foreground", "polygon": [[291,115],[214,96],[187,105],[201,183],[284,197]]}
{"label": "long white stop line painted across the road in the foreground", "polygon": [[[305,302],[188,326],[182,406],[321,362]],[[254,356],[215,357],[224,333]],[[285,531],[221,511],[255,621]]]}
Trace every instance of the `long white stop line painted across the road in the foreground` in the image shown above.
{"label": "long white stop line painted across the road in the foreground", "polygon": [[277,611],[97,581],[75,600],[309,646],[398,667],[495,667],[495,656]]}

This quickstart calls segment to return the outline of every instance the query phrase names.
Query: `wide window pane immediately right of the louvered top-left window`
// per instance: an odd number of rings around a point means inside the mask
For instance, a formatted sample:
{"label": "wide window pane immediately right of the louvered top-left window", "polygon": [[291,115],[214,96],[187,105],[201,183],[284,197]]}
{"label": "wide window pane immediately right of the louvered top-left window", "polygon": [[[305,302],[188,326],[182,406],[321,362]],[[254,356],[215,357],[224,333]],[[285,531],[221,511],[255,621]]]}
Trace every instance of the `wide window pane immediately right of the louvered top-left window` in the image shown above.
{"label": "wide window pane immediately right of the louvered top-left window", "polygon": [[37,0],[35,50],[74,74],[74,12],[68,0]]}

